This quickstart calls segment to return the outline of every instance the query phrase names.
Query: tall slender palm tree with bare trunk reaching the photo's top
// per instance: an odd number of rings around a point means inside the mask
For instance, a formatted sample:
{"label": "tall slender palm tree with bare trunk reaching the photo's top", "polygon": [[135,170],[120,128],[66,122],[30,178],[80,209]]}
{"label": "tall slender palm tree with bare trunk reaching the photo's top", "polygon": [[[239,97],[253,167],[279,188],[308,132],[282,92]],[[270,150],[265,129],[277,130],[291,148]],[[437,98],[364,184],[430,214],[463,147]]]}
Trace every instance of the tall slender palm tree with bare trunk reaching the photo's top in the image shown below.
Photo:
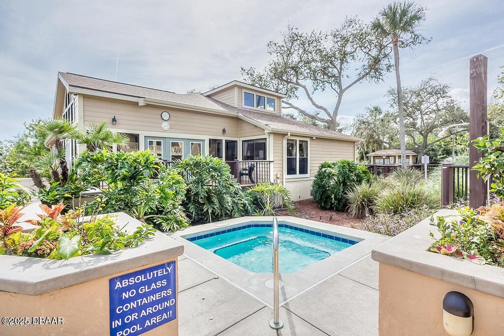
{"label": "tall slender palm tree with bare trunk reaching the photo's top", "polygon": [[425,20],[425,8],[412,2],[390,4],[371,22],[371,29],[384,38],[390,38],[394,50],[396,69],[397,99],[399,106],[399,138],[401,144],[401,166],[406,167],[406,135],[404,131],[403,96],[401,76],[399,75],[399,47],[421,44],[426,38],[416,33],[420,23]]}

